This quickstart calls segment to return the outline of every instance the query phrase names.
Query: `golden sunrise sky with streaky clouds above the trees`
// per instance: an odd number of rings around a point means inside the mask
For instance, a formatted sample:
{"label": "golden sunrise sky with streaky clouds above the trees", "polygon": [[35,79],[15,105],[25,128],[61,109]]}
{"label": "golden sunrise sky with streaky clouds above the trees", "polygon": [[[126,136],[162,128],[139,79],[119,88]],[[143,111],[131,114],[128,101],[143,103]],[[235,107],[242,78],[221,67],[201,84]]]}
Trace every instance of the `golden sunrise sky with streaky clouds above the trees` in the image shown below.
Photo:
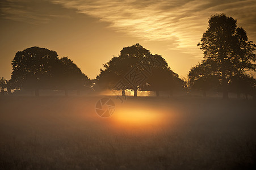
{"label": "golden sunrise sky with streaky clouds above the trees", "polygon": [[1,0],[0,77],[15,53],[31,46],[69,57],[89,78],[125,46],[139,43],[179,76],[203,59],[198,42],[211,15],[237,19],[256,43],[256,0]]}

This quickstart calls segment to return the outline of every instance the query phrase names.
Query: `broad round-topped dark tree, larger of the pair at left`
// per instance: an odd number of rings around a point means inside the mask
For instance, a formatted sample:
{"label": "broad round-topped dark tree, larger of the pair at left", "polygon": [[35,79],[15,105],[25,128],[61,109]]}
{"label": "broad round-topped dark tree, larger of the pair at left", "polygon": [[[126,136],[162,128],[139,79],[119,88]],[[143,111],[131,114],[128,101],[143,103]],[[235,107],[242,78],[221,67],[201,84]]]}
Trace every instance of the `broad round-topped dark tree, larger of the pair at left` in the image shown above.
{"label": "broad round-topped dark tree, larger of the pair at left", "polygon": [[40,89],[56,87],[59,68],[56,52],[33,46],[16,53],[10,84],[12,88],[34,89],[35,95],[39,96]]}

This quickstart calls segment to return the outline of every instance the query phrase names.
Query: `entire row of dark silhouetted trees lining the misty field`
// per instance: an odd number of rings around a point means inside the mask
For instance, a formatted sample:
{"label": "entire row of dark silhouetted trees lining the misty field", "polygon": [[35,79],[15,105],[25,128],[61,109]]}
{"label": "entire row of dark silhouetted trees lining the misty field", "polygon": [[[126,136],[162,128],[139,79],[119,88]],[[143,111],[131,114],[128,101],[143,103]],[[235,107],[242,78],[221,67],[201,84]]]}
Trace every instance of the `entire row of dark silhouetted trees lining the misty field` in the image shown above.
{"label": "entire row of dark silhouetted trees lining the misty field", "polygon": [[[237,27],[237,20],[225,14],[216,14],[209,19],[207,31],[198,44],[204,59],[192,66],[187,79],[179,78],[170,69],[165,59],[152,54],[140,44],[123,48],[103,65],[95,80],[90,80],[68,57],[58,58],[56,52],[45,48],[31,47],[17,52],[12,60],[10,80],[0,79],[1,93],[7,88],[39,90],[125,90],[165,91],[172,95],[175,90],[200,90],[256,95],[256,80],[249,71],[256,70],[256,45],[248,40],[246,31]],[[115,91],[113,91],[115,92]]]}

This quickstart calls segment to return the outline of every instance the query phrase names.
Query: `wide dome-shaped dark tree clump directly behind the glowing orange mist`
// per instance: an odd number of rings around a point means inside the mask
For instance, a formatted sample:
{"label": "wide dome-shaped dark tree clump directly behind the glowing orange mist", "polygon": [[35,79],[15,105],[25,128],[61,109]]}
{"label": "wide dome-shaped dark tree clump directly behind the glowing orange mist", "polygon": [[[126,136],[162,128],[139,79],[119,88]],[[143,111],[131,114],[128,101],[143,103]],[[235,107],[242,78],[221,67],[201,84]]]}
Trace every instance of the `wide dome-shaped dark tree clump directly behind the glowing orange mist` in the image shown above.
{"label": "wide dome-shaped dark tree clump directly behind the glowing orange mist", "polygon": [[119,57],[113,57],[103,66],[104,70],[100,69],[96,77],[97,84],[122,90],[122,95],[125,89],[133,90],[135,97],[137,90],[154,90],[158,95],[158,91],[170,89],[175,80],[180,80],[162,56],[151,54],[140,44],[123,48]]}

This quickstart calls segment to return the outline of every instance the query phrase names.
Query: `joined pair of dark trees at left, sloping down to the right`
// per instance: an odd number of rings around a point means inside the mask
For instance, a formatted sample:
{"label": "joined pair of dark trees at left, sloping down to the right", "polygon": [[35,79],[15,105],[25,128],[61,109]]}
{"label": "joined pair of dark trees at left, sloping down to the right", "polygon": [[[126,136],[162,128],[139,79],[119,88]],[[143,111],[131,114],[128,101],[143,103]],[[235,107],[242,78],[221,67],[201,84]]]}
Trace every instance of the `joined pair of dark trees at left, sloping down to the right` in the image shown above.
{"label": "joined pair of dark trees at left, sloping down to the right", "polygon": [[[17,52],[12,60],[10,88],[84,90],[90,87],[90,79],[68,57],[58,58],[55,51],[37,46]],[[7,88],[7,91],[8,88]]]}

